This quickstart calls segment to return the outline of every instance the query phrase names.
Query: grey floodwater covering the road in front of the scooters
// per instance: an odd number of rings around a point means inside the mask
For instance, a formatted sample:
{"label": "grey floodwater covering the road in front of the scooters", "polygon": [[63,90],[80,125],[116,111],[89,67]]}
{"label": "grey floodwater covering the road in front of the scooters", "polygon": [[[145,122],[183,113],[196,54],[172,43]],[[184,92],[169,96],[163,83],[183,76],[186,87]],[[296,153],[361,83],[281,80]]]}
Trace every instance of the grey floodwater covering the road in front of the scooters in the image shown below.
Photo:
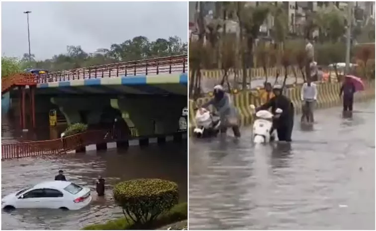
{"label": "grey floodwater covering the road in front of the scooters", "polygon": [[295,119],[292,144],[189,142],[189,229],[375,230],[375,103]]}

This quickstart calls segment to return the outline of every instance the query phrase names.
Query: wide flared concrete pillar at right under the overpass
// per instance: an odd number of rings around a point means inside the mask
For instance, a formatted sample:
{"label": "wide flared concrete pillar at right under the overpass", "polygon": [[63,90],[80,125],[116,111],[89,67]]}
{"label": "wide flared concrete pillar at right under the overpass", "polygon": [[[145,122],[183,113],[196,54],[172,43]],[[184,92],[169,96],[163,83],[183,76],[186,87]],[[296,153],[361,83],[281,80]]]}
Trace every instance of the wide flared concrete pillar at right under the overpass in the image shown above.
{"label": "wide flared concrete pillar at right under the overpass", "polygon": [[111,106],[126,115],[123,118],[135,125],[139,136],[168,134],[179,130],[187,98],[180,95],[120,96],[111,99]]}

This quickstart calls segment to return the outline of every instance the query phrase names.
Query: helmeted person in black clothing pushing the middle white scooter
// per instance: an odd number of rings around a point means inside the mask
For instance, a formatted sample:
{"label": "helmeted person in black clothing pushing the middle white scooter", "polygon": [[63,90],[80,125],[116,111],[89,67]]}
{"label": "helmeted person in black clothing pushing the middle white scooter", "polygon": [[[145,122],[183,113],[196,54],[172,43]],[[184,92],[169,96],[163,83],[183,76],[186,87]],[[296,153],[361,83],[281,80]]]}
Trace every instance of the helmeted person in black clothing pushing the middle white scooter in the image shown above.
{"label": "helmeted person in black clothing pushing the middle white scooter", "polygon": [[289,98],[282,95],[282,86],[275,85],[273,93],[275,97],[258,107],[256,111],[268,110],[272,107],[272,113],[275,113],[277,108],[282,109],[281,114],[275,114],[273,129],[277,129],[278,140],[290,142],[294,125],[294,106]]}

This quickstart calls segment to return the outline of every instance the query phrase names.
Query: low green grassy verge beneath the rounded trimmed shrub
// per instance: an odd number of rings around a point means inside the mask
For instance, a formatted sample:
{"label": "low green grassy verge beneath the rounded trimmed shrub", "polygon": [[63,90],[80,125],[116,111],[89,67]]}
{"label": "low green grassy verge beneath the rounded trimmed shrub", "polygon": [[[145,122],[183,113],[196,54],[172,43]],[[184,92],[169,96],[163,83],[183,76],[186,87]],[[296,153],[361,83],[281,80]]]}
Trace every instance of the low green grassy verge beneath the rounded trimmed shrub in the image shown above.
{"label": "low green grassy verge beneath the rounded trimmed shrub", "polygon": [[[188,218],[188,204],[180,203],[170,211],[160,215],[152,225],[145,226],[144,229],[159,228],[174,222],[184,221]],[[138,227],[140,228],[140,227]],[[134,229],[133,221],[126,218],[118,218],[104,224],[94,224],[83,228],[83,230],[131,230]],[[142,228],[141,228],[142,229]]]}

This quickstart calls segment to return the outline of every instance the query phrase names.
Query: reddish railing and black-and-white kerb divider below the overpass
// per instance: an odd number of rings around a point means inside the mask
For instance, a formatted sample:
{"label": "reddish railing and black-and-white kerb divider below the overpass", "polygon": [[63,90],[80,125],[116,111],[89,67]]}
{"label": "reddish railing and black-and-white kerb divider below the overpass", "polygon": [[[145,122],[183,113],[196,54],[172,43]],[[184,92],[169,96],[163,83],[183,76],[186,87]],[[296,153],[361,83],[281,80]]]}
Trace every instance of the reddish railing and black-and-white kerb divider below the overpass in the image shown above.
{"label": "reddish railing and black-and-white kerb divider below the overpass", "polygon": [[152,143],[163,144],[170,141],[182,142],[186,138],[187,131],[135,137],[130,132],[92,130],[56,140],[3,144],[1,145],[1,160],[147,146]]}

